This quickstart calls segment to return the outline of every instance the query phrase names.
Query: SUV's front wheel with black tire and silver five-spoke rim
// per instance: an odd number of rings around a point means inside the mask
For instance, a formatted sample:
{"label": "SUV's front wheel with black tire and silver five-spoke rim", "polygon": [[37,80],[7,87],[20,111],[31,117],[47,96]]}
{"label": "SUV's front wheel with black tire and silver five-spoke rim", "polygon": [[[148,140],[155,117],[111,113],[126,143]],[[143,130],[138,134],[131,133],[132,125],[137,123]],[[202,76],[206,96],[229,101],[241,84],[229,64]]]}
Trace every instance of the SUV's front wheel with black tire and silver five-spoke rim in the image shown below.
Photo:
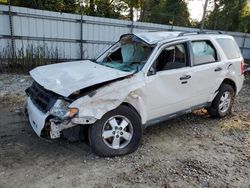
{"label": "SUV's front wheel with black tire and silver five-spoke rim", "polygon": [[142,138],[139,115],[121,105],[89,127],[89,143],[94,153],[113,157],[134,152]]}

